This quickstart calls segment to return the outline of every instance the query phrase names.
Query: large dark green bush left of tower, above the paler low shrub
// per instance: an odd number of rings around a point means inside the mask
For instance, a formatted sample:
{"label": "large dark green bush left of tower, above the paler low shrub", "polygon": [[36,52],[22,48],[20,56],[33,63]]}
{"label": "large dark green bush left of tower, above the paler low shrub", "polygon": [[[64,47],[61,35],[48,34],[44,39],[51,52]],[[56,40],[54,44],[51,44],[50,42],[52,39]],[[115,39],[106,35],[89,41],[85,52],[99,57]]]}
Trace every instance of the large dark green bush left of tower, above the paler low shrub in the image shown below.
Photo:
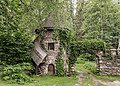
{"label": "large dark green bush left of tower, above the paler low shrub", "polygon": [[25,32],[11,32],[0,35],[0,60],[6,64],[30,61],[31,38]]}

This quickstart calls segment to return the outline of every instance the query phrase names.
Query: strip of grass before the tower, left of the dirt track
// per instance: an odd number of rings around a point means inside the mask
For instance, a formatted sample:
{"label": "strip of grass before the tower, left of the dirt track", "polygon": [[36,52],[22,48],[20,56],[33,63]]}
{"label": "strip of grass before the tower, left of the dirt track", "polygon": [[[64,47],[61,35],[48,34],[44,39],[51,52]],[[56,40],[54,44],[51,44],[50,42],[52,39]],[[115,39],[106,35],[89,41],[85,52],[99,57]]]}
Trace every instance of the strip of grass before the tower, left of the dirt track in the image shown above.
{"label": "strip of grass before the tower, left of the dirt track", "polygon": [[56,77],[56,76],[33,76],[34,81],[22,85],[0,81],[0,86],[74,86],[77,83],[76,76]]}

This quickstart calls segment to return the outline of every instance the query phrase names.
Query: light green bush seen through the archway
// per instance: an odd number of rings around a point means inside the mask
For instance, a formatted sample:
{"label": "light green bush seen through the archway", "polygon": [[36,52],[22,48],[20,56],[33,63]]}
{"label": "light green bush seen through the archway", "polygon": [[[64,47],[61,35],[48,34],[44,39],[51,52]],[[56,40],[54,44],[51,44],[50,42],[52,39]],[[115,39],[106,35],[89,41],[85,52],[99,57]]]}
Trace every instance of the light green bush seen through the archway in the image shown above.
{"label": "light green bush seen through the archway", "polygon": [[83,67],[90,70],[92,73],[97,73],[95,63],[86,62]]}

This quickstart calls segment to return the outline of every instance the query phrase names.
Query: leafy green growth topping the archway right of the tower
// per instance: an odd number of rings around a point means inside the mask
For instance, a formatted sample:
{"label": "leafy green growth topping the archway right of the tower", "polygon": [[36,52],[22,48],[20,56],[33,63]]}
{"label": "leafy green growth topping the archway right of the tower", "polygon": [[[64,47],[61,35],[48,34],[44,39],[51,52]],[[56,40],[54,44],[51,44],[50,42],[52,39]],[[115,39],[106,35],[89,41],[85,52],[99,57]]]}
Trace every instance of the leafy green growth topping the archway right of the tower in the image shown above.
{"label": "leafy green growth topping the archway right of the tower", "polygon": [[[76,42],[76,49],[80,49],[80,52],[103,51],[105,49],[105,43],[102,40],[82,40]],[[94,52],[93,52],[94,53]]]}

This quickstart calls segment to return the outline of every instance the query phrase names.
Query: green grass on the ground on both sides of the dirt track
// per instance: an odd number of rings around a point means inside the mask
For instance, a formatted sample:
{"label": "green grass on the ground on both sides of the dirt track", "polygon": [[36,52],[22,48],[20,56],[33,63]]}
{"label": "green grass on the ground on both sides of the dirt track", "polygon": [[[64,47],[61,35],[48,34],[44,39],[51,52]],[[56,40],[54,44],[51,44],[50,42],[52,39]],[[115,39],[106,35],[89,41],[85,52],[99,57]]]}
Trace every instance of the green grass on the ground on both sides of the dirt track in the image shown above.
{"label": "green grass on the ground on both sides of the dirt track", "polygon": [[[95,86],[95,81],[93,78],[91,78],[90,75],[95,76],[98,80],[120,80],[119,76],[102,76],[97,73],[92,73],[90,70],[85,68],[88,67],[89,65],[92,65],[93,69],[96,65],[95,62],[85,62],[85,63],[79,63],[76,64],[76,70],[77,71],[85,71],[89,72],[90,74],[85,74],[86,78],[83,79],[82,86]],[[88,67],[90,68],[90,67]],[[5,81],[0,81],[0,86],[75,86],[78,82],[78,77],[77,76],[71,76],[71,77],[57,77],[57,76],[33,76],[32,77],[32,82],[31,83],[25,83],[25,84],[15,84],[11,82],[5,82]],[[98,83],[98,86],[103,86],[102,84]]]}

